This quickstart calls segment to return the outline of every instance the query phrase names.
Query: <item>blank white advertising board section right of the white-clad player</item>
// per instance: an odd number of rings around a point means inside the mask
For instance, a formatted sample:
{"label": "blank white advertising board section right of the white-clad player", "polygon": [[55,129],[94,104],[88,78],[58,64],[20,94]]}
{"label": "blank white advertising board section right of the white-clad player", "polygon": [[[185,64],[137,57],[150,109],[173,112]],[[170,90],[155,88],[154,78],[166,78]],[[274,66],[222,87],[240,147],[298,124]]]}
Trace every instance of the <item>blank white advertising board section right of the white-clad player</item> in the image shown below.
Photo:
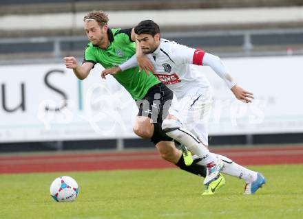
{"label": "blank white advertising board section right of the white-clad player", "polygon": [[211,134],[303,132],[303,56],[229,58],[224,63],[236,82],[253,92],[255,100],[253,104],[235,100],[208,69],[215,102],[225,106],[213,110],[217,114],[210,121]]}

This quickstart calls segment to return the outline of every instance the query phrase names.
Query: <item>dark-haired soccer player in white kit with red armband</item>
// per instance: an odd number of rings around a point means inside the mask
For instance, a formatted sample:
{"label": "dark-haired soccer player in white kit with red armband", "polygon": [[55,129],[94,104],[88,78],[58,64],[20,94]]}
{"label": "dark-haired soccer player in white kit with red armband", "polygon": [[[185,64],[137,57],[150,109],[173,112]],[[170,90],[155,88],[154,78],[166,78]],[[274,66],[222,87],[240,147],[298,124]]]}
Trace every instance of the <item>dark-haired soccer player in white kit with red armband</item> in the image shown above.
{"label": "dark-haired soccer player in white kit with red armband", "polygon": [[[134,30],[138,47],[137,57],[134,56],[118,68],[103,71],[103,76],[136,65],[144,69],[146,65],[140,62],[140,57],[146,54],[154,65],[154,75],[174,91],[178,100],[173,100],[169,115],[163,121],[163,130],[169,137],[180,143],[195,144],[202,141],[205,146],[208,146],[207,116],[212,103],[211,88],[207,78],[198,71],[195,65],[211,67],[226,82],[227,87],[238,100],[249,103],[253,99],[253,94],[244,91],[233,81],[218,56],[213,56],[201,49],[193,49],[160,39],[160,29],[154,21],[142,21]],[[190,132],[185,132],[184,128]],[[195,151],[191,152],[196,154]],[[244,168],[220,154],[215,155],[224,161],[224,167],[221,170],[223,173],[244,179],[246,182],[244,194],[254,194],[265,183],[262,174]],[[211,183],[207,185],[204,194],[213,194]]]}

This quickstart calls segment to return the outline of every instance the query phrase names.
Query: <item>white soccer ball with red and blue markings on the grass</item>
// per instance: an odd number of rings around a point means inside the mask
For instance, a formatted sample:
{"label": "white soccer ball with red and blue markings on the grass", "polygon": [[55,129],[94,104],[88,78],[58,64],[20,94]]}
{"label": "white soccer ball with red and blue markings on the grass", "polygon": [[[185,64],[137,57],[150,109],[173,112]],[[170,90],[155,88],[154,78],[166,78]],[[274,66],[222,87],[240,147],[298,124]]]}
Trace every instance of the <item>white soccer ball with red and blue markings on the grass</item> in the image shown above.
{"label": "white soccer ball with red and blue markings on the grass", "polygon": [[78,192],[78,183],[70,176],[60,176],[50,185],[50,195],[57,202],[72,202]]}

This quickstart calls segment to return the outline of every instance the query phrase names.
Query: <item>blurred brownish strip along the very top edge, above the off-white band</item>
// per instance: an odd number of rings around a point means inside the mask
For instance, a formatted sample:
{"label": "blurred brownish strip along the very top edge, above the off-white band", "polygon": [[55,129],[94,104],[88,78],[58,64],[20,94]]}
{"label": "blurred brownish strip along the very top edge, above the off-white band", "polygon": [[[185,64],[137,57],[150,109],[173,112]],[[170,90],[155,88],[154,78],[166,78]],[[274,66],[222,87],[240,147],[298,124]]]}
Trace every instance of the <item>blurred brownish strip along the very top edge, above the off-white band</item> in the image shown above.
{"label": "blurred brownish strip along the very top edge, above the off-white band", "polygon": [[248,8],[280,7],[303,5],[300,0],[1,0],[0,14],[39,14],[61,12],[85,12],[102,8],[103,10],[172,10],[197,8]]}

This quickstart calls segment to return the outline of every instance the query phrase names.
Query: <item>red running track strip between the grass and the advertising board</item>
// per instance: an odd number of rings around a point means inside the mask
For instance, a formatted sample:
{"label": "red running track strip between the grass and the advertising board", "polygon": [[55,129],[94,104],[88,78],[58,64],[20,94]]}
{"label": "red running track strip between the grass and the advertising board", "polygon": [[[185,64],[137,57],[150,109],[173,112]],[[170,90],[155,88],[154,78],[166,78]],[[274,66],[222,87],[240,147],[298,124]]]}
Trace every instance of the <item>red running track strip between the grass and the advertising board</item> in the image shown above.
{"label": "red running track strip between the grass and the advertising board", "polygon": [[[211,148],[241,165],[303,163],[303,146]],[[158,152],[98,152],[83,154],[1,155],[0,174],[175,168]]]}

